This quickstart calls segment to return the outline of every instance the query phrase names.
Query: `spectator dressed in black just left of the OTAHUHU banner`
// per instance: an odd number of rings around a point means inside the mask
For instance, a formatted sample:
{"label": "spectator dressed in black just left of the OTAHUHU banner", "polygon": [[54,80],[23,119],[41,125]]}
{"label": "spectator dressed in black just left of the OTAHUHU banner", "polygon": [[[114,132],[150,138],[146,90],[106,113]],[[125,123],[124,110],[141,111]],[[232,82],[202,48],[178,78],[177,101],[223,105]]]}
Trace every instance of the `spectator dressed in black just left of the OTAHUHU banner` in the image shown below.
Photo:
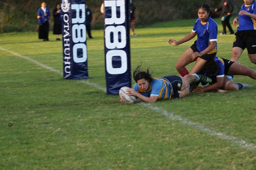
{"label": "spectator dressed in black just left of the OTAHUHU banner", "polygon": [[61,4],[57,3],[52,13],[54,17],[53,34],[56,35],[56,40],[59,41],[61,40],[59,38],[59,34],[61,34]]}

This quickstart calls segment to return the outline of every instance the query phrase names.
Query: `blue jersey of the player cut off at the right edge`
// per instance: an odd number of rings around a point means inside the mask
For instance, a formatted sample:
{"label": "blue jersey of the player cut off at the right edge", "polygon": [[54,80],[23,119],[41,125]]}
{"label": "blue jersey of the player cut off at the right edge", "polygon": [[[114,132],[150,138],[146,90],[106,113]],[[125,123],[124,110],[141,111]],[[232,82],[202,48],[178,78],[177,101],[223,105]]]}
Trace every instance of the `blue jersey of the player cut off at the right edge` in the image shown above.
{"label": "blue jersey of the player cut off at the right edge", "polygon": [[[243,4],[240,11],[247,11],[251,14],[256,14],[256,2],[251,5]],[[239,12],[240,12],[239,11]],[[237,31],[256,30],[256,20],[253,20],[247,15],[238,15],[239,26]]]}

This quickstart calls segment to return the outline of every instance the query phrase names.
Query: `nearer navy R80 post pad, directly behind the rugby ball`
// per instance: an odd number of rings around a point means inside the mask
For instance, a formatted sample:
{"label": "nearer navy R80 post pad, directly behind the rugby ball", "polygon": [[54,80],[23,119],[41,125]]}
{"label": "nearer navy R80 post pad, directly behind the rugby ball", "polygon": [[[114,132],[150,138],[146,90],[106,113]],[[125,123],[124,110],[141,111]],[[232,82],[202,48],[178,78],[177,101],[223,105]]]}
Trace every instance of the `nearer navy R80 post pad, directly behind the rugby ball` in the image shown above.
{"label": "nearer navy R80 post pad, directly behind the rugby ball", "polygon": [[104,0],[107,94],[131,87],[130,0]]}

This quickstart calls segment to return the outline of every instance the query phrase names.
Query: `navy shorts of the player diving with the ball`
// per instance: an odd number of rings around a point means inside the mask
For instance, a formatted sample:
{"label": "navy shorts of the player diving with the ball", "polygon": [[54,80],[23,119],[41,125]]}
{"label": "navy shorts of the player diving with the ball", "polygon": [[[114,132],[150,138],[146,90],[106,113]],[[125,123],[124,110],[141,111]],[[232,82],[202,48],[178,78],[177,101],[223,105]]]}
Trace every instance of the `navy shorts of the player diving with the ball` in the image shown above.
{"label": "navy shorts of the player diving with the ball", "polygon": [[165,76],[165,77],[161,77],[160,79],[166,80],[172,85],[172,91],[173,91],[172,99],[180,97],[180,94],[178,91],[181,90],[183,82],[179,76]]}

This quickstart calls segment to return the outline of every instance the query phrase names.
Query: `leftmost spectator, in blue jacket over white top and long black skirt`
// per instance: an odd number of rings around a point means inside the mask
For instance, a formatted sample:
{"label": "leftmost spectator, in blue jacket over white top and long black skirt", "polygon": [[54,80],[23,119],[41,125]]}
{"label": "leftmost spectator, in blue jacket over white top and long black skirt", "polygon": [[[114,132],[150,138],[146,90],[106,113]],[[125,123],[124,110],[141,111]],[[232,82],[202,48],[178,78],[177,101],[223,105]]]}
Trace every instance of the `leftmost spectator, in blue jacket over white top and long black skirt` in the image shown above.
{"label": "leftmost spectator, in blue jacket over white top and long black skirt", "polygon": [[37,18],[39,23],[38,36],[39,39],[43,39],[44,41],[49,41],[49,16],[50,10],[46,7],[46,3],[41,3],[41,8],[38,9]]}

